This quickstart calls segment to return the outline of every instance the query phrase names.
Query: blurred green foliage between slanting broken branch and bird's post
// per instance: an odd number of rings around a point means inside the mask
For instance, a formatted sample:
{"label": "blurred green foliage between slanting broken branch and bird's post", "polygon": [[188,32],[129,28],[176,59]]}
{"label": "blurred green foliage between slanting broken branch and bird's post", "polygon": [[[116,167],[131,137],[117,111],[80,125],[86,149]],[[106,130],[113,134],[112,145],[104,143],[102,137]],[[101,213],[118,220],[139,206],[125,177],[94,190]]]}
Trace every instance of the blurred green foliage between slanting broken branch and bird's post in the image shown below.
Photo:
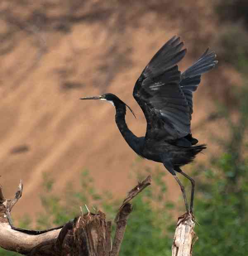
{"label": "blurred green foliage between slanting broken branch and bird's post", "polygon": [[[148,188],[150,190],[151,188]],[[143,195],[144,196],[144,195]],[[120,256],[171,255],[172,239],[168,239],[164,226],[158,225],[156,210],[139,195],[134,200],[134,212],[129,218]],[[167,213],[165,212],[165,215]]]}

